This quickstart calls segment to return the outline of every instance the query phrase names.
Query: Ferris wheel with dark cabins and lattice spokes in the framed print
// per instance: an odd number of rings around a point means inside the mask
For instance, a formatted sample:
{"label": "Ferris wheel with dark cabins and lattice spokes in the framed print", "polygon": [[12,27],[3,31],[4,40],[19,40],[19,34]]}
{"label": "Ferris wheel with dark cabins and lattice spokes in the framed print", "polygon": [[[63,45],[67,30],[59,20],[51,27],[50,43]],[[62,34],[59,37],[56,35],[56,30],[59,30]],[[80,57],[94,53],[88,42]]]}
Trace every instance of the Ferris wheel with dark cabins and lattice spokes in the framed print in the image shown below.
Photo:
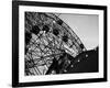
{"label": "Ferris wheel with dark cabins and lattice spokes in the framed print", "polygon": [[53,74],[53,67],[54,74],[62,74],[84,51],[79,37],[56,14],[25,12],[25,75]]}

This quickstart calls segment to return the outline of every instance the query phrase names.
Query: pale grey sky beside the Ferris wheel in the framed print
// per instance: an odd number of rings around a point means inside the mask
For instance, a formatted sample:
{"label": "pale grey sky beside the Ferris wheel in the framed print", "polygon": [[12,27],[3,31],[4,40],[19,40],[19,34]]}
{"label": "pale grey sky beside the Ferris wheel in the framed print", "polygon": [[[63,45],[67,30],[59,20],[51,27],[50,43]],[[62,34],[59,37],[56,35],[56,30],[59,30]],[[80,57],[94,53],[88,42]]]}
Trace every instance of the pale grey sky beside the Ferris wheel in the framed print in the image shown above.
{"label": "pale grey sky beside the Ferris wheel in the framed print", "polygon": [[99,16],[97,14],[59,14],[59,18],[74,30],[87,50],[99,45]]}

